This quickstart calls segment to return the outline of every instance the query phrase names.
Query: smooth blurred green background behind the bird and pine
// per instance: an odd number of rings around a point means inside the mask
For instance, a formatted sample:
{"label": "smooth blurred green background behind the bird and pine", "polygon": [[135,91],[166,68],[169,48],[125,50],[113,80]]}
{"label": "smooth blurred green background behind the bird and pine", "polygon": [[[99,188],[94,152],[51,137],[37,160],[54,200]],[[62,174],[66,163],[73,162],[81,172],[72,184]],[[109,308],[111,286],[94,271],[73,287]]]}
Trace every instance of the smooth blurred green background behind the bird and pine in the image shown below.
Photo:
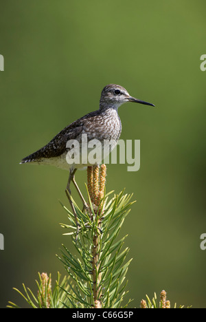
{"label": "smooth blurred green background behind the bird and pine", "polygon": [[[38,272],[65,275],[56,258],[71,246],[68,173],[19,165],[56,133],[98,109],[117,83],[157,108],[119,108],[124,140],[141,140],[141,169],[108,166],[107,192],[134,193],[122,228],[133,257],[131,307],[165,289],[172,305],[206,308],[206,72],[204,0],[0,1],[1,217],[0,306],[25,303],[12,290],[36,288]],[[86,171],[76,180],[86,193]],[[128,258],[129,259],[129,258]]]}

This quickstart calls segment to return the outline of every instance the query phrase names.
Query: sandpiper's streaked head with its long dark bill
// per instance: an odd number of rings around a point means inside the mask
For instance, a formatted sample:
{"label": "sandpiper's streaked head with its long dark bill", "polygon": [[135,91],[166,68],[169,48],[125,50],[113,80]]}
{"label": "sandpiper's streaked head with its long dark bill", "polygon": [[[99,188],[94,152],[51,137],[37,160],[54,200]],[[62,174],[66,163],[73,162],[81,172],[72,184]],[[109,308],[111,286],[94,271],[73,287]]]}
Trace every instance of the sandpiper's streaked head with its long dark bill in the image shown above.
{"label": "sandpiper's streaked head with its long dark bill", "polygon": [[144,100],[137,100],[137,98],[130,96],[126,89],[120,85],[109,84],[102,89],[100,109],[106,109],[108,107],[117,109],[120,105],[126,102],[155,106],[151,103],[144,102]]}

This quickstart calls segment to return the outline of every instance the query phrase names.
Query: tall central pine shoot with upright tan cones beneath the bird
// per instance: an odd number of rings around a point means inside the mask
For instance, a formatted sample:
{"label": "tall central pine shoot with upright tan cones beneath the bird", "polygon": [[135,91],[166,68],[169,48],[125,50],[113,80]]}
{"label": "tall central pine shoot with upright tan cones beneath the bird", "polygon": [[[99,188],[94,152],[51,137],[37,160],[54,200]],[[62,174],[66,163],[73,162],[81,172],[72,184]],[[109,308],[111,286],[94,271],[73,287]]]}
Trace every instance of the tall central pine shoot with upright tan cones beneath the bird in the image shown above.
{"label": "tall central pine shoot with upright tan cones beneath the bird", "polygon": [[[67,211],[72,225],[61,224],[69,229],[73,246],[78,256],[63,246],[58,257],[73,279],[73,307],[119,308],[126,288],[126,272],[130,261],[125,263],[128,248],[122,251],[126,237],[117,241],[119,230],[130,211],[130,195],[114,195],[108,200],[105,195],[106,166],[89,167],[87,171],[89,210],[82,212],[72,200],[78,215],[80,227],[76,240],[76,225],[73,213]],[[73,231],[71,231],[73,230]]]}

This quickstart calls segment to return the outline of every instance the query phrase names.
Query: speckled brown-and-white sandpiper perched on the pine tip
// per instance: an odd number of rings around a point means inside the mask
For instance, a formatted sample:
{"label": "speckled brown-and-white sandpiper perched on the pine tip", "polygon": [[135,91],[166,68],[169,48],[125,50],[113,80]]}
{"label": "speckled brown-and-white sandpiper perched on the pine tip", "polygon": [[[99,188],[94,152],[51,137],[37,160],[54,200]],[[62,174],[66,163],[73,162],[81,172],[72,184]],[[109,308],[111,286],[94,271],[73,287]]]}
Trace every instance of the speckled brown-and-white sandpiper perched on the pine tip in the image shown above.
{"label": "speckled brown-and-white sandpiper perched on the pine tip", "polygon": [[[42,147],[38,151],[28,155],[20,162],[20,164],[48,164],[69,171],[66,193],[75,217],[76,211],[70,197],[70,184],[73,182],[82,199],[84,207],[87,208],[87,202],[85,202],[84,197],[78,188],[78,184],[76,184],[75,173],[77,169],[83,169],[93,164],[82,164],[81,162],[79,164],[68,164],[67,142],[69,140],[77,140],[80,143],[81,153],[82,134],[84,134],[87,135],[88,142],[91,140],[99,140],[100,142],[104,142],[104,140],[113,140],[114,148],[122,132],[122,123],[119,118],[118,108],[127,102],[140,103],[155,107],[155,105],[151,103],[147,103],[144,100],[139,100],[130,96],[127,90],[120,85],[106,85],[101,92],[100,106],[98,110],[92,111],[67,125],[67,127],[54,136],[54,138],[46,144],[45,147]],[[77,222],[76,217],[76,223]]]}

